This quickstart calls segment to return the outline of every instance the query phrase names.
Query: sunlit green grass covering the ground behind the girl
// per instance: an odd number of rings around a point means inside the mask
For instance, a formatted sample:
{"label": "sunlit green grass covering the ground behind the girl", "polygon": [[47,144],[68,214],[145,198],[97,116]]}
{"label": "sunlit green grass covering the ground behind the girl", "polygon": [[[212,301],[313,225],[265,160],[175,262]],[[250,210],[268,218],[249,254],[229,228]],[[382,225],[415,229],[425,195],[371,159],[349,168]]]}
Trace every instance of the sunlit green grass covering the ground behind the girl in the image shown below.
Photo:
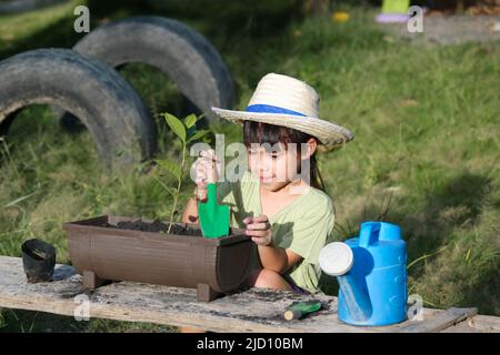
{"label": "sunlit green grass covering the ground behind the girl", "polygon": [[[72,11],[52,10],[54,17],[32,18],[38,22],[29,31],[21,29],[20,16],[0,17],[0,58],[39,47],[37,39],[47,33],[53,36],[43,45],[74,43]],[[371,10],[348,10],[347,23],[296,19],[272,31],[256,10],[253,22],[240,22],[246,26],[230,36],[210,17],[202,20],[203,13],[173,16],[219,49],[237,84],[237,108],[244,108],[264,73],[286,73],[316,87],[322,116],[354,132],[344,149],[320,158],[336,203],[336,240],[354,235],[362,221],[397,223],[408,242],[410,293],[420,294],[426,306],[478,306],[500,315],[500,43],[411,47],[381,32]],[[137,12],[130,11],[103,11],[96,23]],[[158,71],[129,65],[123,74],[153,112],[181,111],[174,85]],[[226,133],[228,143],[241,139],[230,124],[213,131]],[[159,140],[160,155],[176,156],[164,126]],[[24,110],[0,151],[1,255],[19,256],[23,240],[41,237],[57,245],[58,262],[66,263],[63,222],[103,213],[170,214],[158,172],[144,174],[138,166],[109,175],[89,134],[61,130],[47,106]],[[192,191],[190,182],[184,186],[183,201]],[[336,282],[323,278],[323,287],[334,293]],[[8,310],[0,313],[0,329],[172,331]]]}

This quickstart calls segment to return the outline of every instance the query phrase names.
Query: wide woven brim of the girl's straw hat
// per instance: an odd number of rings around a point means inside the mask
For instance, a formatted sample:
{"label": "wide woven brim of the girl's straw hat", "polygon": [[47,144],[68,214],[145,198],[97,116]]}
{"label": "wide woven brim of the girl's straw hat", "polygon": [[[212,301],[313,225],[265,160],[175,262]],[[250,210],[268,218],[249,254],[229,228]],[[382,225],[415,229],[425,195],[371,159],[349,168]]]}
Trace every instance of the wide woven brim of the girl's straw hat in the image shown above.
{"label": "wide woven brim of the girl's straw hat", "polygon": [[233,111],[211,108],[220,118],[232,123],[254,121],[287,126],[316,136],[327,149],[337,148],[354,139],[354,134],[336,123],[311,116],[298,116],[282,113]]}

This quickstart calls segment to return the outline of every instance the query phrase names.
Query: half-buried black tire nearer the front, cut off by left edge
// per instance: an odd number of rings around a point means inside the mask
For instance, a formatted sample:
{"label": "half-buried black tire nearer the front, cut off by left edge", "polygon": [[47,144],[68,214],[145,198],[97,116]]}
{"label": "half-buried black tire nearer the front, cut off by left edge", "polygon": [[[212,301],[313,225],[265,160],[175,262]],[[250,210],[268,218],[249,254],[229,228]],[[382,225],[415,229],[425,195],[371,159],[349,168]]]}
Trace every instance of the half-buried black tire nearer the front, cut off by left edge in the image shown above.
{"label": "half-buried black tire nearer the front, cut off by left edge", "polygon": [[0,124],[34,103],[81,120],[111,168],[148,159],[154,128],[136,91],[116,70],[68,49],[39,49],[0,62]]}

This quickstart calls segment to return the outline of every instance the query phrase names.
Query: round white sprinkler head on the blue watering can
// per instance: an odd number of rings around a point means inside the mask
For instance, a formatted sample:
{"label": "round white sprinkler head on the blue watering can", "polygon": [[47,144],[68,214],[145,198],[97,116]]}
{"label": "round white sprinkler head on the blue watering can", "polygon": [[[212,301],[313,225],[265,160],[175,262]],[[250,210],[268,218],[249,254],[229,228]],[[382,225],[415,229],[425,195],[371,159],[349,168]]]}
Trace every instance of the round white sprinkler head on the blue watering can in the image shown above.
{"label": "round white sprinkler head on the blue watering can", "polygon": [[351,270],[354,255],[349,245],[341,242],[333,242],[320,252],[319,263],[321,270],[330,276],[340,276]]}

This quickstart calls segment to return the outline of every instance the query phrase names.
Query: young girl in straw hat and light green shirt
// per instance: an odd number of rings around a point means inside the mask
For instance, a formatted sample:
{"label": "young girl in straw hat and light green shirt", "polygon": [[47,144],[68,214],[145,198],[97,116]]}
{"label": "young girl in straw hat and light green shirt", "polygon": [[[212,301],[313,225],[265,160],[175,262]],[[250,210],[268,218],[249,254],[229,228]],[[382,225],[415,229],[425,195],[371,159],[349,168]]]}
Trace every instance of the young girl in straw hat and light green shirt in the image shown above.
{"label": "young girl in straw hat and light green shirt", "polygon": [[[261,79],[247,111],[212,110],[243,124],[249,171],[236,182],[219,182],[220,162],[213,151],[202,152],[196,162],[197,199],[206,199],[207,184],[216,182],[218,203],[230,205],[231,225],[246,229],[257,244],[249,285],[318,292],[319,252],[333,230],[334,211],[318,171],[317,146],[334,148],[353,134],[318,119],[314,89],[274,73]],[[198,221],[197,199],[188,202],[183,222]]]}

